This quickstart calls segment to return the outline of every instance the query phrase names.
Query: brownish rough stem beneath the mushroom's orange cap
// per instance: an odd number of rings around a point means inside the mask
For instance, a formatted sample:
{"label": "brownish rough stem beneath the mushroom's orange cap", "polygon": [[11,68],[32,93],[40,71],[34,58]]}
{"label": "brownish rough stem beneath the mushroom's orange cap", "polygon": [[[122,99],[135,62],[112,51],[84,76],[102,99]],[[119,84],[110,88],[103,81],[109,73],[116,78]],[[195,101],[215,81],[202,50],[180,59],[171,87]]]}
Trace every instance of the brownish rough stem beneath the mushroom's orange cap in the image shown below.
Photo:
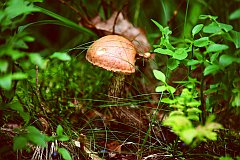
{"label": "brownish rough stem beneath the mushroom's orange cap", "polygon": [[117,102],[124,96],[126,75],[123,73],[113,73],[111,84],[108,89],[108,96],[111,101]]}

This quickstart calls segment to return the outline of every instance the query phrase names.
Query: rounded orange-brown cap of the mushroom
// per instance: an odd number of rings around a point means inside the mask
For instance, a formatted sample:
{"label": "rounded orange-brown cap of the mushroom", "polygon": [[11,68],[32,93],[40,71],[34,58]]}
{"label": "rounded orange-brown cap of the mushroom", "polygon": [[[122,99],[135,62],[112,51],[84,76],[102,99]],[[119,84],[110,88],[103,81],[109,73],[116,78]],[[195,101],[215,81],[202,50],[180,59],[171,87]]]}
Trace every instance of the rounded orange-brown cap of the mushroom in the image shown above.
{"label": "rounded orange-brown cap of the mushroom", "polygon": [[87,50],[86,59],[99,67],[126,74],[135,72],[136,50],[126,38],[108,35],[96,40]]}

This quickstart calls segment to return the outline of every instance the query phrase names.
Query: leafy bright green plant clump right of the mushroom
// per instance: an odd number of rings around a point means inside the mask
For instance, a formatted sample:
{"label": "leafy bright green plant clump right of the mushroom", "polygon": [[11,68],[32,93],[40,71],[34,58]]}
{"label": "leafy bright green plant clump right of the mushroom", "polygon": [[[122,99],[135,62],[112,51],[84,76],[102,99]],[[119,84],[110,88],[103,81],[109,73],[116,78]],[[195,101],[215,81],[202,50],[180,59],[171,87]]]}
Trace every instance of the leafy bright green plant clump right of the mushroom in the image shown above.
{"label": "leafy bright green plant clump right of the mushroom", "polygon": [[[201,15],[199,19],[205,20],[206,24],[196,25],[192,29],[191,39],[184,39],[184,42],[172,41],[169,27],[164,28],[152,20],[162,34],[159,45],[154,46],[154,52],[168,57],[168,75],[181,65],[188,68],[188,80],[177,82],[184,86],[179,95],[174,95],[176,88],[167,84],[163,72],[153,71],[154,76],[163,83],[156,88],[156,92],[168,92],[170,95],[160,99],[160,102],[173,109],[163,124],[171,126],[174,133],[192,147],[208,139],[217,140],[215,131],[223,128],[213,122],[215,116],[211,115],[222,99],[213,100],[212,96],[224,97],[229,107],[239,106],[239,80],[230,75],[237,74],[240,58],[236,50],[227,52],[231,42],[239,48],[239,32],[234,31],[231,25],[218,22],[216,16]],[[198,74],[200,79],[192,78],[197,69],[201,71],[195,75]],[[205,83],[207,77],[213,79],[210,85]]]}

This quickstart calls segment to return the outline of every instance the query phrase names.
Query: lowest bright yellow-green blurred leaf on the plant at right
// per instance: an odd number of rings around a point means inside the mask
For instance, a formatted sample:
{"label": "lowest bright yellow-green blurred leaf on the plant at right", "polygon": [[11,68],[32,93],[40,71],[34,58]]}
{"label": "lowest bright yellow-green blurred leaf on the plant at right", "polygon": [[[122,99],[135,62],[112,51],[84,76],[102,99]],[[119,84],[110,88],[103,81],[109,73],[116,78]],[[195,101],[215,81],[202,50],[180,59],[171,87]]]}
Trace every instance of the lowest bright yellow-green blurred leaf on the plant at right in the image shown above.
{"label": "lowest bright yellow-green blurred leaf on the plant at right", "polygon": [[194,128],[183,130],[179,134],[180,139],[186,144],[190,144],[196,136],[197,131]]}

